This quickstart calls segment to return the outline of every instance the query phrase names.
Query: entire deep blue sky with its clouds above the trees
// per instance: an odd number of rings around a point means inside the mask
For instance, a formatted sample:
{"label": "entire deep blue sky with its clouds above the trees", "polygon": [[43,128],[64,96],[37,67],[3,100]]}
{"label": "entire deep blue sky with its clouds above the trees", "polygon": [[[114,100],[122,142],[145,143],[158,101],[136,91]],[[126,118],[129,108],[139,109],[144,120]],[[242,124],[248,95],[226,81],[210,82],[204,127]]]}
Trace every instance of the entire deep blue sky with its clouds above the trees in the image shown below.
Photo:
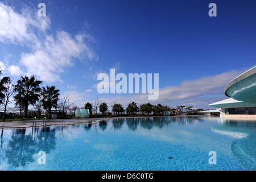
{"label": "entire deep blue sky with its clouds above the trees", "polygon": [[[46,17],[38,17],[38,3]],[[217,17],[208,5],[217,5]],[[159,73],[159,99],[209,108],[256,63],[255,1],[1,1],[0,66],[36,75],[76,105],[126,105],[140,94],[98,94],[98,73]]]}

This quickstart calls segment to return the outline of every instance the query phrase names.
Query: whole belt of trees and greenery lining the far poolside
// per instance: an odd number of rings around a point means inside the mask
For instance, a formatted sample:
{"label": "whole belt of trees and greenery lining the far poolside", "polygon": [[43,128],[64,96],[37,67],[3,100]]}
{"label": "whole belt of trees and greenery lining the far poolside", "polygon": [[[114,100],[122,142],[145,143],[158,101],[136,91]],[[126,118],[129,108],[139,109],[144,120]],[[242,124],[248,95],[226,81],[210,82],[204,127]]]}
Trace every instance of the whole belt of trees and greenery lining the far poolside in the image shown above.
{"label": "whole belt of trees and greenery lining the far poolside", "polygon": [[[2,71],[0,71],[0,75]],[[57,119],[76,118],[76,109],[88,109],[89,118],[115,118],[115,117],[159,117],[164,115],[196,115],[195,111],[183,111],[167,105],[150,103],[137,105],[130,102],[126,108],[119,103],[106,103],[98,98],[86,102],[83,107],[77,107],[69,101],[69,96],[61,96],[60,90],[55,86],[42,86],[43,81],[34,75],[21,76],[16,82],[10,77],[0,80],[0,122],[28,121],[36,117],[38,121],[46,117],[51,119],[52,114]],[[11,103],[14,107],[9,107]],[[111,109],[109,109],[110,107]],[[185,106],[181,106],[185,107]],[[55,109],[55,110],[53,110]]]}

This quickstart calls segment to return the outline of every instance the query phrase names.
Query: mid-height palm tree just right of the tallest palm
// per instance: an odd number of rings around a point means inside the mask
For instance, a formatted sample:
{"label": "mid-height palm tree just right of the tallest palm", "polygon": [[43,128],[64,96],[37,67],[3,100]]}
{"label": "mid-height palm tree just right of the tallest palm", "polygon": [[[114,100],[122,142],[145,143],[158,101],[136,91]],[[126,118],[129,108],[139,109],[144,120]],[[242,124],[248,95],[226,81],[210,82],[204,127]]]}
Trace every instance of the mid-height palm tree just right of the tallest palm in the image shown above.
{"label": "mid-height palm tree just right of the tallest palm", "polygon": [[43,87],[42,91],[42,104],[43,108],[48,110],[48,114],[52,114],[52,107],[57,107],[57,102],[59,100],[59,89],[55,89],[55,86]]}

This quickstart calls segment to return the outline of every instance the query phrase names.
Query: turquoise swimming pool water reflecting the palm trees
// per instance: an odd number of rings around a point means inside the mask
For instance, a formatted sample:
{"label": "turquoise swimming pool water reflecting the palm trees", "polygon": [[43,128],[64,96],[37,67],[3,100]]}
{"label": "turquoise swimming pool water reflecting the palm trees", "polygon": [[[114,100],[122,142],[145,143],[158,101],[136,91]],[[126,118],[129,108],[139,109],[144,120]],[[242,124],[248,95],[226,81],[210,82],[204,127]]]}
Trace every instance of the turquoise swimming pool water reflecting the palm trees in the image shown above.
{"label": "turquoise swimming pool water reflecting the palm trees", "polygon": [[[109,119],[3,130],[0,170],[255,170],[256,122],[220,118]],[[46,152],[40,165],[39,151]],[[217,164],[208,155],[216,152]]]}

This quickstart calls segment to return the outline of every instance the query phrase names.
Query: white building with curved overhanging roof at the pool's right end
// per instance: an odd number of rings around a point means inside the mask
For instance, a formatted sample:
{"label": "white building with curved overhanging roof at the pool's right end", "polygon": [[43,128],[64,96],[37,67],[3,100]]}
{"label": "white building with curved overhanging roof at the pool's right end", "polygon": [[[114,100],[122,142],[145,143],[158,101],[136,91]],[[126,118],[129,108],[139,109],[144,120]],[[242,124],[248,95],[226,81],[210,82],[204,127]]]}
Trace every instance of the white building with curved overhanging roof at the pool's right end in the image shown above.
{"label": "white building with curved overhanging roof at the pool's right end", "polygon": [[230,81],[225,95],[230,98],[209,105],[220,110],[221,118],[256,121],[256,66]]}

